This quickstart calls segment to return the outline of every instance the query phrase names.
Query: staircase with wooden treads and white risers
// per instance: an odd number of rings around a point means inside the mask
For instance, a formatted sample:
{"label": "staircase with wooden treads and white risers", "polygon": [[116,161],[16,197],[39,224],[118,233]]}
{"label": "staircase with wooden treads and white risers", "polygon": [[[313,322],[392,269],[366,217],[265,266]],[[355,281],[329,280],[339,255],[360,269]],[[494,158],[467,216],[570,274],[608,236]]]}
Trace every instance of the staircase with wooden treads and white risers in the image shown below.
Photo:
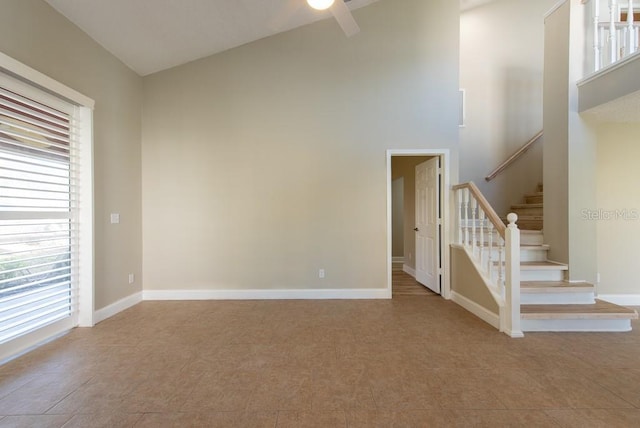
{"label": "staircase with wooden treads and white risers", "polygon": [[513,205],[520,227],[522,331],[629,331],[635,310],[595,298],[595,286],[566,281],[568,266],[548,260],[542,232],[543,189]]}

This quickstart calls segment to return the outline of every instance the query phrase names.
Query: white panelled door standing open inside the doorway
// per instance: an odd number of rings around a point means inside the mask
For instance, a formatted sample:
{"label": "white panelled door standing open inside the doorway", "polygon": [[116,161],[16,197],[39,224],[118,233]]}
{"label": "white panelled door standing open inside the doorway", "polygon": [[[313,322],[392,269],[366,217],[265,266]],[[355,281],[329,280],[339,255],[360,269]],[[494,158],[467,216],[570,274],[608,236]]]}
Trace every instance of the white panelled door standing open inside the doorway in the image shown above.
{"label": "white panelled door standing open inside the doorway", "polygon": [[416,166],[416,280],[440,294],[439,158]]}

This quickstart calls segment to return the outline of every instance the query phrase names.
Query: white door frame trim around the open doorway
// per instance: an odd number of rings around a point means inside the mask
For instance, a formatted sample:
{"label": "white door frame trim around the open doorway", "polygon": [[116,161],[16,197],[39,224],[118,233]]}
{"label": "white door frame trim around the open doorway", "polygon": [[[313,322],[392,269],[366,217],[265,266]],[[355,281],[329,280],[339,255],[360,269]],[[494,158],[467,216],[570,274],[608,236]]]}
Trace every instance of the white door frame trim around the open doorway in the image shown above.
{"label": "white door frame trim around the open doorway", "polygon": [[387,150],[387,290],[389,297],[392,294],[392,234],[391,234],[391,158],[394,156],[438,156],[440,157],[440,207],[442,210],[442,228],[440,230],[440,257],[442,259],[441,275],[442,287],[441,296],[447,300],[451,299],[451,283],[449,277],[449,248],[450,227],[449,227],[449,174],[450,174],[450,150],[449,149],[389,149]]}

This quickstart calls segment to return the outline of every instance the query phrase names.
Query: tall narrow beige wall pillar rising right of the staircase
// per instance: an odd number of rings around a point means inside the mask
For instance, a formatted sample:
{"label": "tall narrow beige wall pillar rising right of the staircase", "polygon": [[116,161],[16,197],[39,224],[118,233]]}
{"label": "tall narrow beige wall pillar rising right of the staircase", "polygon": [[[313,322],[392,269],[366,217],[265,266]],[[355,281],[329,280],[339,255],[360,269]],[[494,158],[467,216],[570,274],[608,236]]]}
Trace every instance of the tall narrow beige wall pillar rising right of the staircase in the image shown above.
{"label": "tall narrow beige wall pillar rising right of the staircase", "polygon": [[578,113],[576,82],[584,75],[585,8],[563,3],[545,21],[544,238],[549,258],[569,264],[571,280],[596,281],[598,236],[581,218],[597,203],[597,139]]}

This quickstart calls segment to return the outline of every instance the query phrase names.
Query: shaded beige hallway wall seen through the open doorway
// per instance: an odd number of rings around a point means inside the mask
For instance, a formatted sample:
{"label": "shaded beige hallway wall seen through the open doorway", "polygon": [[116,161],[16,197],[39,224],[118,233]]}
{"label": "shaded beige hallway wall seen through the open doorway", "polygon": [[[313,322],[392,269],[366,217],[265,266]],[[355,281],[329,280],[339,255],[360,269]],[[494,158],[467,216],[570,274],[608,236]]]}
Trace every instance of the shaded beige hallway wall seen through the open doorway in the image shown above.
{"label": "shaded beige hallway wall seen through the open doorway", "polygon": [[416,267],[416,165],[431,159],[431,156],[393,156],[391,158],[391,178],[404,178],[404,264]]}

